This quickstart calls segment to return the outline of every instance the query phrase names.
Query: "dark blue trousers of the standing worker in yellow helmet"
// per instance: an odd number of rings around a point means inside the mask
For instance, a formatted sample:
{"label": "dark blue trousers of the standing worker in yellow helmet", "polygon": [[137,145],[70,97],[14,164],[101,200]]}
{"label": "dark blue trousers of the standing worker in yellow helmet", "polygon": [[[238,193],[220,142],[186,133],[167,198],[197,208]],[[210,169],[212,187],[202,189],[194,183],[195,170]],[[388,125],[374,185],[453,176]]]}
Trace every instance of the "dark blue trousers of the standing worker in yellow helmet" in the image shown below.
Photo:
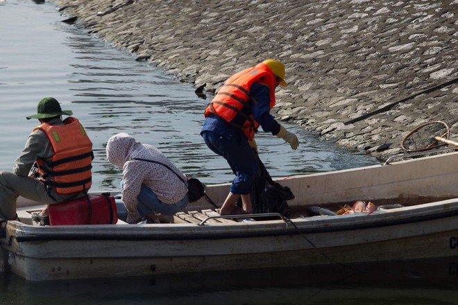
{"label": "dark blue trousers of the standing worker in yellow helmet", "polygon": [[203,130],[201,135],[208,148],[226,159],[235,174],[230,192],[241,195],[250,193],[260,166],[256,153],[244,134],[234,132],[230,136],[222,136],[217,132]]}

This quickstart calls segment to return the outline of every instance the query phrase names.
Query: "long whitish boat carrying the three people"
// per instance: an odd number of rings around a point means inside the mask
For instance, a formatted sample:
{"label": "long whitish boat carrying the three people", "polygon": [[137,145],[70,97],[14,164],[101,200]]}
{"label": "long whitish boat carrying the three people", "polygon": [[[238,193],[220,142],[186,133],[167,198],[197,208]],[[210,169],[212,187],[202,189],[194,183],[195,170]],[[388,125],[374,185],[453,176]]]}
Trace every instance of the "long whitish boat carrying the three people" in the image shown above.
{"label": "long whitish boat carrying the three people", "polygon": [[[296,198],[280,214],[223,218],[202,198],[174,223],[40,227],[37,202],[19,202],[1,241],[3,268],[31,281],[130,277],[183,272],[351,265],[457,256],[458,153],[393,159],[385,164],[277,180]],[[207,186],[221,204],[228,184]],[[307,216],[307,207],[335,211],[357,200],[371,214]],[[275,219],[272,219],[275,216]]]}

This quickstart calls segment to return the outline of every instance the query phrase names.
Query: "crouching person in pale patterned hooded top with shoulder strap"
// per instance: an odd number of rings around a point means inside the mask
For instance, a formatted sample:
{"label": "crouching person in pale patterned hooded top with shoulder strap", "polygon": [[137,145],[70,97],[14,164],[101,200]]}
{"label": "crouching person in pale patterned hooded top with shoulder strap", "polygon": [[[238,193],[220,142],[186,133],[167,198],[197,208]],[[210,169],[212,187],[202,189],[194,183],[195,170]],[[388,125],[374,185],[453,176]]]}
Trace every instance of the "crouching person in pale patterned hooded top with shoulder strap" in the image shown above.
{"label": "crouching person in pale patterned hooded top with shoulder strap", "polygon": [[110,163],[122,169],[121,200],[128,223],[138,223],[145,217],[158,222],[158,214],[173,215],[186,207],[186,176],[158,148],[121,132],[108,140],[106,155]]}

